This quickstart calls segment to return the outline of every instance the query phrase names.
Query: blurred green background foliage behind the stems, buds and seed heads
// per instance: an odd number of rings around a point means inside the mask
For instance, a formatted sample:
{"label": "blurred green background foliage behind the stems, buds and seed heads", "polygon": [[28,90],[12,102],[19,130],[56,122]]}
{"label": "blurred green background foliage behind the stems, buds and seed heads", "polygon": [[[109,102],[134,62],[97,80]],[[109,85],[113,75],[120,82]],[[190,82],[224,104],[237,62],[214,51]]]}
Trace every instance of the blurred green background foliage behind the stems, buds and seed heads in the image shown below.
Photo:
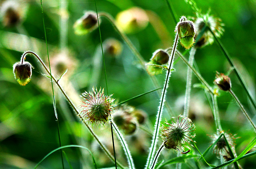
{"label": "blurred green background foliage behind the stems, buds and seed heads", "polygon": [[[184,1],[171,2],[178,17],[182,15],[195,17],[189,4]],[[33,168],[47,153],[59,147],[57,122],[52,106],[51,83],[49,78],[42,75],[46,72],[32,55],[26,58],[34,66],[31,81],[26,86],[20,86],[16,82],[12,73],[12,65],[18,62],[21,54],[27,50],[36,52],[48,65],[40,1],[12,1],[11,4],[15,3],[15,10],[19,12],[20,22],[9,26],[4,22],[3,14],[3,4],[6,1],[1,0],[0,3],[2,21],[0,26],[0,168]],[[221,18],[225,24],[225,32],[221,41],[255,99],[256,2],[253,0],[197,0],[196,3],[202,13],[206,13],[211,8],[211,14]],[[148,25],[129,33],[128,37],[145,61],[149,61],[155,50],[172,47],[176,23],[164,0],[97,0],[98,11],[107,12],[114,18],[119,12],[132,7],[144,10],[149,22]],[[60,80],[60,84],[77,108],[80,108],[81,101],[79,100],[83,98],[79,95],[82,92],[90,91],[92,86],[106,87],[98,28],[86,35],[76,35],[73,29],[74,23],[82,17],[84,11],[95,11],[94,1],[43,0],[43,9],[52,72],[55,77],[60,77],[61,72],[68,69]],[[107,19],[101,18],[100,30],[103,46],[106,47],[108,38],[115,38],[122,46],[117,56],[105,52],[108,91],[114,94],[116,101],[121,102],[155,89],[148,73],[141,68],[131,49]],[[180,44],[178,50],[185,51]],[[188,59],[188,52],[185,57]],[[202,76],[212,86],[216,71],[226,73],[230,69],[230,65],[216,43],[198,49],[195,61]],[[165,118],[168,120],[170,115],[177,116],[183,113],[187,66],[182,60],[178,60],[174,68],[166,96],[166,102],[172,107],[172,112],[164,111],[162,121]],[[156,75],[156,77],[160,85],[164,84],[165,73]],[[193,84],[199,83],[194,75],[192,78]],[[256,112],[234,72],[231,72],[230,78],[233,91],[252,120],[256,122]],[[62,145],[83,145],[92,150],[99,167],[114,166],[99,149],[58,88],[55,86],[54,89]],[[155,115],[159,106],[157,93],[153,92],[132,100],[129,105],[148,114],[147,122],[142,125],[142,128],[153,132]],[[218,105],[222,127],[237,137],[235,147],[239,154],[255,137],[255,132],[230,94],[220,91]],[[196,125],[197,147],[204,152],[211,143],[209,135],[213,135],[216,131],[204,90],[192,88],[189,114]],[[109,128],[109,124],[106,124],[100,129],[94,126],[93,130],[111,150]],[[150,135],[138,129],[135,134],[125,136],[125,138],[132,151],[136,168],[144,168]],[[117,159],[126,165],[124,152],[117,139],[115,143]],[[64,151],[74,169],[93,168],[91,156],[87,151],[79,148],[66,148]],[[197,151],[191,153],[197,153]],[[164,150],[162,154],[161,159],[176,157],[176,152],[173,151]],[[256,168],[254,159],[254,157],[244,159],[240,161],[240,164],[246,169]],[[214,165],[220,164],[220,160],[211,153],[206,156],[206,160]],[[65,168],[69,167],[65,158],[64,164]],[[200,165],[201,168],[209,168],[203,161],[200,161]],[[193,160],[188,160],[187,164],[182,166],[184,168],[195,167]],[[46,158],[38,168],[62,168],[60,152],[55,152]],[[175,165],[169,165],[166,168],[175,168]]]}

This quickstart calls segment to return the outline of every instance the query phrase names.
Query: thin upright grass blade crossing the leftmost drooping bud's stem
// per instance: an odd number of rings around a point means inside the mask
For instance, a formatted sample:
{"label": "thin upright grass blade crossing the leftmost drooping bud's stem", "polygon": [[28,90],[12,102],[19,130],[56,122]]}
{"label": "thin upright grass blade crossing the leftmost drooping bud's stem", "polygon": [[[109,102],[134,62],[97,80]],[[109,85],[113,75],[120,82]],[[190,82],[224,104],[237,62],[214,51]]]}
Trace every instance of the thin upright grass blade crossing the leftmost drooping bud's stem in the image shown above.
{"label": "thin upright grass blade crossing the leftmost drooping bud's stem", "polygon": [[[44,36],[45,36],[46,50],[47,50],[47,56],[48,56],[48,62],[49,62],[49,69],[50,69],[50,76],[51,76],[51,82],[52,82],[52,72],[51,72],[50,58],[49,58],[48,45],[47,45],[47,38],[46,38],[46,31],[45,31],[45,24],[44,24],[44,12],[43,12],[42,0],[41,0],[41,10],[42,10],[43,25],[44,25]],[[55,102],[55,95],[54,95],[54,90],[53,90],[53,83],[52,83],[52,98],[53,98],[54,113],[55,113],[55,116],[56,116],[56,119],[57,119],[57,123],[58,123],[59,144],[60,144],[60,147],[61,147],[60,127],[59,127],[58,115],[57,115],[57,110],[56,110],[56,102]],[[62,155],[62,150],[61,150],[61,149],[60,149],[60,154],[61,154],[62,168],[64,169],[63,155]]]}

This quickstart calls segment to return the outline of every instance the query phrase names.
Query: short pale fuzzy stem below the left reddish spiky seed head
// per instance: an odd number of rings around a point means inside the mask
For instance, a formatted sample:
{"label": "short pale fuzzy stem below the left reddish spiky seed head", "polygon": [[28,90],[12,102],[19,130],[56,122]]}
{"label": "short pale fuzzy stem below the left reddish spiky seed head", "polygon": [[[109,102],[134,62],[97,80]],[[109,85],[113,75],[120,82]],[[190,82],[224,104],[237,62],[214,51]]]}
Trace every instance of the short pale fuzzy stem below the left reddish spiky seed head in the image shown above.
{"label": "short pale fuzzy stem below the left reddish spiky seed head", "polygon": [[122,147],[124,149],[124,153],[126,155],[127,161],[128,161],[128,165],[129,165],[129,169],[135,169],[134,163],[133,163],[133,159],[132,159],[132,155],[128,149],[128,145],[125,142],[124,136],[121,134],[120,130],[118,129],[118,127],[116,126],[116,124],[114,123],[113,120],[111,120],[111,123],[113,123],[114,129],[116,131],[116,135],[118,136]]}

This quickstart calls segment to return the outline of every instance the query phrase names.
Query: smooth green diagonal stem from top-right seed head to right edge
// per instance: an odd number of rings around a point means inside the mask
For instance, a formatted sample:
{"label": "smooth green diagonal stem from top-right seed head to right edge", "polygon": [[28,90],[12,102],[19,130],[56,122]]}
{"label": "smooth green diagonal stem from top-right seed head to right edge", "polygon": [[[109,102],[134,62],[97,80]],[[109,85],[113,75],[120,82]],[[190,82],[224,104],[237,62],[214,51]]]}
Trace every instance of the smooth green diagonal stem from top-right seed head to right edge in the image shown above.
{"label": "smooth green diagonal stem from top-right seed head to right edge", "polygon": [[235,74],[236,77],[238,78],[240,84],[242,85],[242,87],[244,88],[244,91],[246,92],[247,96],[249,97],[250,101],[252,102],[252,105],[254,107],[254,109],[256,110],[256,103],[255,100],[252,99],[251,94],[249,93],[249,90],[247,89],[247,87],[245,86],[244,80],[242,79],[242,76],[240,75],[240,73],[238,72],[236,65],[234,64],[233,60],[231,59],[230,55],[228,54],[228,51],[226,50],[226,48],[223,46],[223,44],[221,43],[220,39],[217,38],[215,36],[215,34],[212,32],[212,30],[209,28],[209,30],[211,31],[212,35],[214,36],[215,40],[217,41],[217,44],[219,46],[219,48],[221,49],[221,52],[223,53],[223,55],[226,57],[226,59],[228,60],[228,63],[234,68],[235,70]]}

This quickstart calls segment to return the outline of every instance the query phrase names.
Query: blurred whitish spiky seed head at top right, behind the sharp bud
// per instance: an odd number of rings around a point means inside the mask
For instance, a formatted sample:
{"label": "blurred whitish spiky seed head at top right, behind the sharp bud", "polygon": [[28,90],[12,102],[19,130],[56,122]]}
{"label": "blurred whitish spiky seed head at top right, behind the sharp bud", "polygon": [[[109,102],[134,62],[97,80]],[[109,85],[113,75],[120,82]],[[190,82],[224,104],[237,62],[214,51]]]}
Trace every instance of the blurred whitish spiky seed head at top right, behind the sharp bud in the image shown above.
{"label": "blurred whitish spiky seed head at top right, behind the sharp bud", "polygon": [[[194,18],[193,20],[197,30],[195,37],[197,37],[201,33],[201,31],[203,31],[205,26],[208,26],[216,37],[220,37],[224,32],[224,24],[221,23],[221,19],[216,18],[209,13],[200,15],[200,17]],[[196,42],[195,47],[203,48],[204,46],[210,45],[213,42],[214,36],[212,35],[211,31],[209,29],[205,29],[201,38]]]}

